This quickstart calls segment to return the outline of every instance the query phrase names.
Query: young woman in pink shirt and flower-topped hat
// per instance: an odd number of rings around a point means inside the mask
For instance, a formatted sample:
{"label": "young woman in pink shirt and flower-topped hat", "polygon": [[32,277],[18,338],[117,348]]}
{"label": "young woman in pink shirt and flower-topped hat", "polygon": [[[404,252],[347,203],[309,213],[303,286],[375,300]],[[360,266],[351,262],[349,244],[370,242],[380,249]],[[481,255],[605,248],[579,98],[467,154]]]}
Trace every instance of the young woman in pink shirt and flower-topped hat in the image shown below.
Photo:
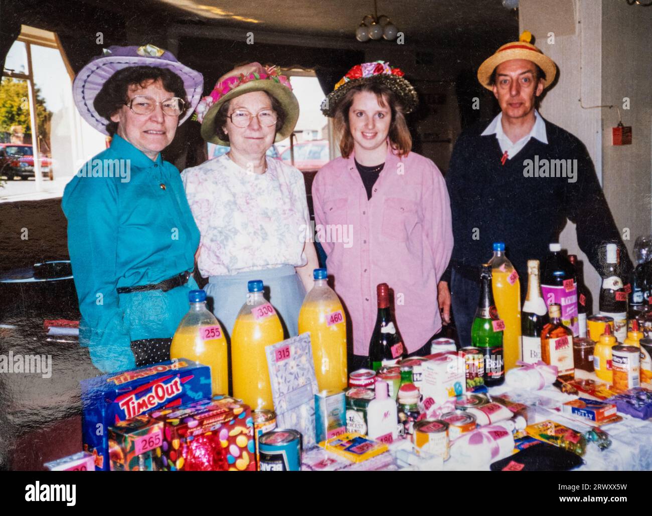
{"label": "young woman in pink shirt and flower-topped hat", "polygon": [[449,196],[437,166],[410,152],[404,115],[417,106],[417,93],[403,75],[382,61],[359,64],[321,106],[334,118],[342,157],[316,175],[312,198],[329,274],[353,330],[349,371],[368,367],[379,283],[394,291],[408,354],[428,354],[442,315],[449,319],[450,298],[437,300],[452,251]]}

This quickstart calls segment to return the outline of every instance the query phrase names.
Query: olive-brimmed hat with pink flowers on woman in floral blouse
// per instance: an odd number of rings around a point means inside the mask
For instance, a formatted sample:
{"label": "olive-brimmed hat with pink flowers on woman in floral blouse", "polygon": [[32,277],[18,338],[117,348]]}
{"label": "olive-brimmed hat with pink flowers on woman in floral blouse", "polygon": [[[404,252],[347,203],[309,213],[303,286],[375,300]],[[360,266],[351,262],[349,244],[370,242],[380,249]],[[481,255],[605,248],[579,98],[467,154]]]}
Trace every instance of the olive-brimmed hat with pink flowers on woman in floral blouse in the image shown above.
{"label": "olive-brimmed hat with pink flowers on woman in floral blouse", "polygon": [[292,134],[299,120],[299,101],[292,93],[289,79],[280,74],[278,66],[263,68],[258,63],[252,64],[256,68],[255,72],[228,77],[218,82],[211,94],[201,99],[194,118],[201,122],[201,137],[205,141],[218,145],[231,145],[217,136],[215,117],[224,102],[252,91],[266,91],[278,100],[285,111],[285,123],[276,131],[274,141],[281,141]]}

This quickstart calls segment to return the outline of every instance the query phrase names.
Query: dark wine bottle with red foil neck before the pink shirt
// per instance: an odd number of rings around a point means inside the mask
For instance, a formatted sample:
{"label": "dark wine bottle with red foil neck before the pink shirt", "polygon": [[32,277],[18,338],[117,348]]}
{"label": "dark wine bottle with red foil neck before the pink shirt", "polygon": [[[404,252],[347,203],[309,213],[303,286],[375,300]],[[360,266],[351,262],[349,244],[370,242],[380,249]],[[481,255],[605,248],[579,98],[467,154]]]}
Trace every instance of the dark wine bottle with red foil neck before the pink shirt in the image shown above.
{"label": "dark wine bottle with red foil neck before the pink shirt", "polygon": [[383,366],[394,366],[408,356],[406,347],[396,331],[394,317],[389,309],[389,286],[380,283],[378,294],[378,316],[369,343],[369,362],[371,369],[378,372]]}

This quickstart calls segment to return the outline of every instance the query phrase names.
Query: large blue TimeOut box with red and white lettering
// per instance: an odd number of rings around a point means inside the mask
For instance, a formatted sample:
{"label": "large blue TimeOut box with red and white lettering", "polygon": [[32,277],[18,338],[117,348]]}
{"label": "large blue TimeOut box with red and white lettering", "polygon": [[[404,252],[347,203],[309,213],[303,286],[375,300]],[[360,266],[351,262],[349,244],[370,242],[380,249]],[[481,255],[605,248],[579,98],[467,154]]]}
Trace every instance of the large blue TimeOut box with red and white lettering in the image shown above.
{"label": "large blue TimeOut box with red and white lettering", "polygon": [[109,469],[109,427],[154,409],[211,396],[211,368],[177,358],[82,380],[82,440],[97,470]]}

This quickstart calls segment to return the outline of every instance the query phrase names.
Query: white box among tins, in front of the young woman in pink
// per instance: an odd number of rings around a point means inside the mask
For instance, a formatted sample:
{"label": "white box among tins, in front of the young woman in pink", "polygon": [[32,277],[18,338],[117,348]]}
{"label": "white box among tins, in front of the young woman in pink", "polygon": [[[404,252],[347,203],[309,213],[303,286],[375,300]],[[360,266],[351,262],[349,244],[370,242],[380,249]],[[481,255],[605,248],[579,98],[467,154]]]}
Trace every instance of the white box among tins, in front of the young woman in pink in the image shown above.
{"label": "white box among tins, in front of the young woman in pink", "polygon": [[437,405],[466,392],[466,364],[457,352],[428,355],[422,364],[421,394]]}

